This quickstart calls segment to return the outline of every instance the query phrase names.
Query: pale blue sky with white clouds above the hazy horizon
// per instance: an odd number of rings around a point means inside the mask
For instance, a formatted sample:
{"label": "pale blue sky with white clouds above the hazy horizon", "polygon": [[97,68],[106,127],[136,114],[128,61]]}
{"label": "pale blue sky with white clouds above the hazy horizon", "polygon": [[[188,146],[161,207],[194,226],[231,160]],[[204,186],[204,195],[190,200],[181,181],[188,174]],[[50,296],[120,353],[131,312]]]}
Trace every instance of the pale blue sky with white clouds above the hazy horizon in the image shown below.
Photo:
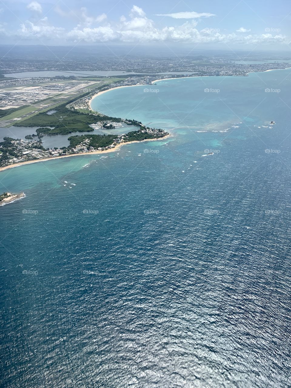
{"label": "pale blue sky with white clouds above the hazy horizon", "polygon": [[291,49],[289,0],[0,0],[0,43]]}

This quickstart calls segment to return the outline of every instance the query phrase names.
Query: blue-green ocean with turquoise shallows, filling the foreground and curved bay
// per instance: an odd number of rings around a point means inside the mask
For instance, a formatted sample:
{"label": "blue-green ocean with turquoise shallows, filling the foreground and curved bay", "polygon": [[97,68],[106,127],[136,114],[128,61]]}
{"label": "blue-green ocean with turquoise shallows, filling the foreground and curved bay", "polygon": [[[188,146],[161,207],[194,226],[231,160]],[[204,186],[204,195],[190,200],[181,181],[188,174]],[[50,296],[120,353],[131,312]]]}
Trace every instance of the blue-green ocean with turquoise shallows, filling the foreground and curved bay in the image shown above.
{"label": "blue-green ocean with turquoise shallows, filling the foreground and curved bay", "polygon": [[289,73],[110,91],[173,136],[0,173],[26,193],[0,207],[2,385],[288,386]]}

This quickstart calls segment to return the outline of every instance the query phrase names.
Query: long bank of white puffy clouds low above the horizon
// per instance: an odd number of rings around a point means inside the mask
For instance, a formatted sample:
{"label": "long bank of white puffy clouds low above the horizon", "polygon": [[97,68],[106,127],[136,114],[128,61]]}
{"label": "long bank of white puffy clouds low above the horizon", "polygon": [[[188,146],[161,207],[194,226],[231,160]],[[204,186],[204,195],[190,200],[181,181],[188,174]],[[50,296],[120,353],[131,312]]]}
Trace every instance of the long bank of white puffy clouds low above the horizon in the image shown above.
{"label": "long bank of white puffy clouds low above the horizon", "polygon": [[[57,11],[58,12],[58,11]],[[61,11],[63,12],[63,11]],[[69,17],[76,17],[76,14],[66,14]],[[134,5],[130,10],[129,17],[121,16],[118,22],[109,23],[106,21],[106,15],[89,16],[85,7],[78,12],[78,25],[66,31],[64,28],[50,26],[47,17],[34,24],[26,21],[21,24],[18,30],[18,36],[21,38],[38,38],[61,42],[121,42],[121,43],[191,43],[207,44],[222,43],[226,45],[241,44],[271,44],[271,43],[289,43],[284,35],[273,36],[270,33],[263,35],[242,34],[249,32],[245,28],[240,28],[233,33],[220,33],[220,29],[215,28],[197,28],[199,20],[188,20],[179,26],[166,26],[162,29],[156,28],[154,21],[148,19],[144,10]],[[80,22],[79,22],[80,21]],[[94,23],[102,23],[95,26]]]}

